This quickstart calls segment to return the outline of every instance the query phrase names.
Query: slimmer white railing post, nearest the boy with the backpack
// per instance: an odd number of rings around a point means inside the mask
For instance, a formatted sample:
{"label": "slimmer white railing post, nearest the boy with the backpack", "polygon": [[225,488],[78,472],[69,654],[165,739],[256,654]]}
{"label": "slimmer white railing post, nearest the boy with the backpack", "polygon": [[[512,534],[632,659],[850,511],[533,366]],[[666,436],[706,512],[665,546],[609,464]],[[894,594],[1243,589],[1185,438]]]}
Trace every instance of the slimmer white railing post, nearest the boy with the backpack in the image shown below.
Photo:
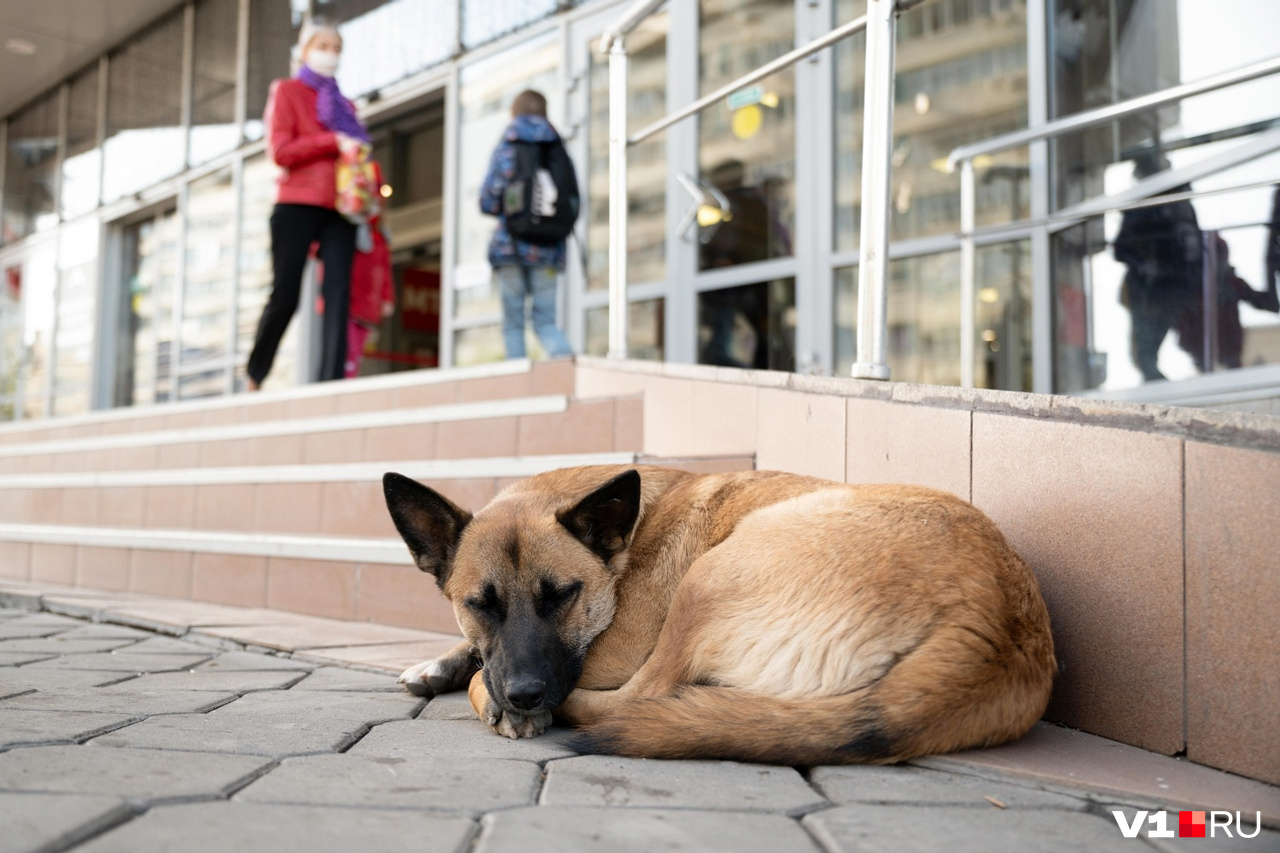
{"label": "slimmer white railing post, nearest the boy with the backpack", "polygon": [[609,352],[627,357],[627,49],[609,47]]}

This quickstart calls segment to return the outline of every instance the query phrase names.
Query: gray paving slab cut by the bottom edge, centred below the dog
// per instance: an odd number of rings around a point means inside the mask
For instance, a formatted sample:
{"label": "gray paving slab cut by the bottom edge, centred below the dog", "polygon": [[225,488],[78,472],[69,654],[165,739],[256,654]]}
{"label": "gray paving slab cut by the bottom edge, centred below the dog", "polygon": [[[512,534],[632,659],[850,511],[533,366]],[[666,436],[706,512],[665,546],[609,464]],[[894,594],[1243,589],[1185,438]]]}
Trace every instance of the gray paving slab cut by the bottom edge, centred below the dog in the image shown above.
{"label": "gray paving slab cut by the bottom edge, centred below the dog", "polygon": [[481,825],[476,853],[818,853],[781,815],[539,806]]}

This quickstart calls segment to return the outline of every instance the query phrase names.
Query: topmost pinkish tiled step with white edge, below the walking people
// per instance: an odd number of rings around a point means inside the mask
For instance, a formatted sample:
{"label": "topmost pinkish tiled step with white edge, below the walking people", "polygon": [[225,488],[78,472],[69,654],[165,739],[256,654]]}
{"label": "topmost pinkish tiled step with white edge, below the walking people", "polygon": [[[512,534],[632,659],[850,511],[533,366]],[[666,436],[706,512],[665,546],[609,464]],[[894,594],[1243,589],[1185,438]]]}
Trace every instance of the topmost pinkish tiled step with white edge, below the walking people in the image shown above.
{"label": "topmost pinkish tiled step with white edge, below the walking people", "polygon": [[0,424],[0,447],[484,400],[563,396],[572,392],[572,361],[532,364],[513,360],[474,368],[415,370],[317,383],[262,394],[237,394]]}

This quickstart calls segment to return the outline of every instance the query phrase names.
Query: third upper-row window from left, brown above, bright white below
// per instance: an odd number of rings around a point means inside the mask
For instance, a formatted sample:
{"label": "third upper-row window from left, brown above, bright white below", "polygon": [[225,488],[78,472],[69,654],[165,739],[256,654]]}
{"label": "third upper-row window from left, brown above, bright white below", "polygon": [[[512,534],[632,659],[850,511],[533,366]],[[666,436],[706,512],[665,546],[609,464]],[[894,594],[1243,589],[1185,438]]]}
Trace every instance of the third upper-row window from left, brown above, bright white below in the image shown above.
{"label": "third upper-row window from left, brown above, bright white below", "polygon": [[169,15],[110,58],[105,201],[182,170],[182,14]]}

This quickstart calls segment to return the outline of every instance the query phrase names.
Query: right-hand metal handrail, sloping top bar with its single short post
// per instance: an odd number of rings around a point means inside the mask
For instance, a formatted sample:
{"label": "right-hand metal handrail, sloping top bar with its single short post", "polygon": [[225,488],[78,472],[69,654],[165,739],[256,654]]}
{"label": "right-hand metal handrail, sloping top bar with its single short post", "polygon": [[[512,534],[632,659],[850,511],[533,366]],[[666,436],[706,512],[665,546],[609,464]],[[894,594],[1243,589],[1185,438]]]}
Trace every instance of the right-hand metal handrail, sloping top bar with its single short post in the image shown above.
{"label": "right-hand metal handrail, sloping top bar with its single short post", "polygon": [[1190,83],[1183,83],[1151,95],[1142,95],[1110,106],[1085,110],[1074,115],[1068,115],[1037,127],[1004,133],[1001,136],[964,145],[947,158],[947,170],[955,172],[960,168],[960,386],[973,388],[974,386],[974,332],[975,332],[975,306],[974,295],[977,289],[977,247],[974,243],[978,188],[974,174],[974,159],[1021,147],[1033,142],[1042,142],[1059,136],[1083,131],[1092,127],[1107,124],[1128,115],[1144,113],[1147,110],[1165,106],[1196,95],[1204,95],[1239,83],[1247,83],[1261,77],[1267,77],[1280,72],[1280,56],[1267,59],[1252,65],[1244,65],[1234,70],[1222,72]]}

